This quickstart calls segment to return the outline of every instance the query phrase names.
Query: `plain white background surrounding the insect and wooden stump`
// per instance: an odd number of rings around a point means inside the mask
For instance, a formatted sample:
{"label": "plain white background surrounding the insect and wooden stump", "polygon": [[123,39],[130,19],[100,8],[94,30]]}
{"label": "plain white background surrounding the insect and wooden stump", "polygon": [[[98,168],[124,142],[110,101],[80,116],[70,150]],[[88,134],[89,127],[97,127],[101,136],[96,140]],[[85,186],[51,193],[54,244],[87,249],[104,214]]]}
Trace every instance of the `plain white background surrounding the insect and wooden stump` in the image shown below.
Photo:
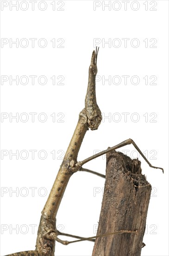
{"label": "plain white background surrounding the insect and wooden stump", "polygon": [[[23,85],[23,79],[18,85],[15,81],[10,85],[8,80],[1,85],[1,113],[7,113],[3,117],[9,117],[1,119],[1,158],[4,152],[8,155],[1,160],[0,256],[35,249],[41,210],[62,162],[57,158],[66,151],[78,115],[84,108],[88,67],[96,46],[100,46],[97,75],[101,78],[96,86],[97,103],[103,116],[110,115],[110,119],[103,119],[97,131],[87,132],[78,160],[93,155],[94,150],[104,150],[132,138],[148,154],[153,165],[164,168],[163,174],[139,157],[143,174],[154,188],[144,235],[146,246],[141,255],[168,256],[168,1],[130,1],[126,8],[123,1],[110,1],[105,10],[104,4],[108,1],[55,1],[55,10],[54,1],[41,1],[38,5],[39,2],[35,1],[33,11],[30,1],[23,1],[22,5],[19,1],[18,10],[12,7],[16,1],[1,1],[1,38],[9,41],[1,44],[1,79],[4,75],[7,78],[25,75],[29,82]],[[95,11],[94,5],[98,5]],[[19,46],[10,46],[10,38],[11,41],[18,39]],[[29,43],[27,47],[24,47],[24,38]],[[30,38],[37,39],[34,47]],[[42,38],[47,42],[46,47],[43,47]],[[98,44],[94,43],[96,38]],[[127,45],[125,38],[129,39]],[[56,40],[55,47],[51,42],[53,39]],[[61,39],[64,42],[59,47]],[[110,45],[104,41],[110,41]],[[137,42],[138,47],[134,47]],[[34,85],[30,75],[37,76]],[[38,82],[42,75],[47,78],[44,85]],[[51,80],[54,75],[56,85]],[[122,75],[130,76],[127,84]],[[134,75],[139,77],[138,85],[131,79]],[[58,76],[64,77],[64,85],[57,84],[61,80]],[[119,76],[121,83],[117,85],[118,81],[114,80],[110,85],[107,81],[103,84],[103,76],[110,76],[111,80]],[[145,76],[148,77],[147,85]],[[156,85],[150,85],[154,80],[150,76],[156,76]],[[10,121],[10,115],[16,113],[20,117],[18,122],[16,119]],[[28,121],[23,121],[26,115],[22,113],[27,114]],[[29,113],[37,113],[34,122]],[[47,116],[45,122],[41,121],[44,115],[40,113]],[[53,113],[56,115],[54,122]],[[129,113],[127,120],[122,113]],[[148,120],[145,113],[148,113]],[[139,120],[136,122],[137,116]],[[119,122],[118,118],[121,118]],[[127,155],[137,157],[132,145],[121,149],[128,149]],[[26,150],[27,159],[22,159],[25,153],[18,160],[14,155],[10,159],[10,150],[11,153]],[[37,150],[34,160],[30,150]],[[46,159],[39,159],[40,150],[46,152]],[[53,150],[56,153],[54,160],[50,153]],[[41,158],[44,157],[43,152],[41,154]],[[100,157],[84,167],[105,174],[106,160]],[[96,187],[101,192],[94,196]],[[58,211],[57,226],[61,225],[58,229],[79,236],[94,236],[103,187],[104,179],[98,176],[73,175]],[[12,193],[17,188],[18,196]],[[34,196],[30,188],[37,188]],[[44,192],[47,195],[42,196]],[[25,193],[28,195],[24,196]],[[30,225],[36,225],[34,234]],[[13,230],[16,227],[18,234]],[[62,238],[70,240],[69,237]],[[68,246],[56,243],[55,255],[90,256],[93,246],[91,242]]]}

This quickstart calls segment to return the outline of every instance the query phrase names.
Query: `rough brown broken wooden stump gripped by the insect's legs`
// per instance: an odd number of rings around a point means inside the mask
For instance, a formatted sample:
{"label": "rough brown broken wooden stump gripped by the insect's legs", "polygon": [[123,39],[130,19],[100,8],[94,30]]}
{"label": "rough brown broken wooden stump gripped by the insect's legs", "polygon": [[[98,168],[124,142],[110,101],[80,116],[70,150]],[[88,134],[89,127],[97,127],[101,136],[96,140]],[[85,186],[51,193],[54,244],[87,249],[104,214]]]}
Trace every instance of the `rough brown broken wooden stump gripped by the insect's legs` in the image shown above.
{"label": "rough brown broken wooden stump gripped by the insect's legs", "polygon": [[97,236],[119,230],[138,230],[138,234],[98,237],[92,256],[140,256],[151,194],[140,164],[138,159],[131,160],[120,152],[106,155],[106,181]]}

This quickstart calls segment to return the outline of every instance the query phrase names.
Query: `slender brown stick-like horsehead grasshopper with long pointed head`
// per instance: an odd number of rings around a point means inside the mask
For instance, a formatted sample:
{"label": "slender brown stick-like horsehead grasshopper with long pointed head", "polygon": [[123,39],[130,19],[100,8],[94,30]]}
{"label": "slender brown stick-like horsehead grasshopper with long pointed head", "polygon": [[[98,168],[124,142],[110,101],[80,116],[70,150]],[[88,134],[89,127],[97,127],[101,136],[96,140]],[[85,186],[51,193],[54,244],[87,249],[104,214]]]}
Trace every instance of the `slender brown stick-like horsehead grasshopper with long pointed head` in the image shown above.
{"label": "slender brown stick-like horsehead grasshopper with long pointed head", "polygon": [[[69,147],[66,151],[63,162],[56,176],[56,180],[53,184],[50,195],[41,213],[42,215],[41,215],[39,228],[38,228],[36,249],[31,251],[10,254],[8,256],[54,256],[56,241],[59,243],[63,243],[65,245],[69,243],[84,241],[84,240],[94,241],[94,238],[97,236],[83,238],[80,236],[61,233],[56,229],[57,211],[59,209],[60,203],[62,201],[62,196],[67,187],[70,177],[77,171],[87,171],[87,172],[105,177],[105,175],[101,175],[99,173],[88,170],[86,168],[82,168],[82,166],[85,163],[89,162],[90,160],[96,157],[99,157],[100,155],[104,155],[107,152],[110,152],[117,148],[121,148],[125,145],[133,144],[133,146],[138,150],[140,155],[144,158],[144,160],[149,164],[151,168],[158,168],[150,164],[150,162],[146,159],[142,151],[138,148],[138,146],[132,139],[125,140],[119,143],[118,145],[108,148],[91,157],[88,157],[83,161],[77,161],[78,152],[80,150],[81,143],[83,141],[83,138],[86,132],[88,131],[89,128],[91,130],[98,129],[102,119],[100,108],[98,107],[96,102],[96,93],[95,93],[95,77],[97,74],[98,50],[99,48],[97,49],[96,47],[96,51],[93,51],[91,63],[89,66],[88,89],[87,89],[87,94],[85,98],[85,108],[83,108],[79,114],[79,120],[77,122],[75,132],[69,143]],[[160,168],[160,169],[162,169],[163,171],[163,168]],[[115,233],[117,234],[137,233],[137,231],[120,230]],[[109,236],[111,234],[114,234],[114,233],[103,234],[102,236]],[[71,242],[63,241],[58,238],[59,235],[75,237],[75,238],[78,238],[79,240],[75,240]]]}

